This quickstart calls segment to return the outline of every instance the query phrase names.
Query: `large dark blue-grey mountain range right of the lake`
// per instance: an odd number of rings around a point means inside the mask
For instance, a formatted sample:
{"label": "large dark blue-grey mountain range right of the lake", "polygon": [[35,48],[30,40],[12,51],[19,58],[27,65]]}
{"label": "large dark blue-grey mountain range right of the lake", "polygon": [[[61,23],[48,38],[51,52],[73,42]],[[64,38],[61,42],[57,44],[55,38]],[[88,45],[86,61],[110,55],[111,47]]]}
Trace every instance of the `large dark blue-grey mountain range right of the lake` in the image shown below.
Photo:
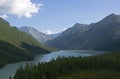
{"label": "large dark blue-grey mountain range right of the lake", "polygon": [[66,50],[118,50],[120,49],[120,16],[111,14],[90,25],[77,23],[46,44]]}

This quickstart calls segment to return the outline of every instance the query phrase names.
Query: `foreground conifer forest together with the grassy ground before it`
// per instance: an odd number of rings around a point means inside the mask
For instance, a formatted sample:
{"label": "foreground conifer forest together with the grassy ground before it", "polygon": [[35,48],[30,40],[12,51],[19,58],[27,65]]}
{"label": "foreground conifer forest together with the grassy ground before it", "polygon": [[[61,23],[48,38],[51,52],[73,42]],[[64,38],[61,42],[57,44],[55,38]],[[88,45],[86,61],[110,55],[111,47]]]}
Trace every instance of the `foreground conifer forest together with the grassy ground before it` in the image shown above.
{"label": "foreground conifer forest together with the grassy ground before it", "polygon": [[96,77],[120,78],[119,52],[91,57],[62,57],[37,65],[27,64],[25,68],[21,66],[17,70],[13,79],[96,79]]}

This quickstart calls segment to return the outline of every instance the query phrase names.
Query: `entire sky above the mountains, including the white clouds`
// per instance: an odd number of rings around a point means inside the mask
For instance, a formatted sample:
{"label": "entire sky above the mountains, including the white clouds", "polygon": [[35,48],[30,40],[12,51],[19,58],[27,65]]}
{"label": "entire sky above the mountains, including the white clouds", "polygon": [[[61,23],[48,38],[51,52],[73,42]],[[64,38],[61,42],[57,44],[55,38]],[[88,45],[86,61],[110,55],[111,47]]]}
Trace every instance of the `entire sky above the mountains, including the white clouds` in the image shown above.
{"label": "entire sky above the mountains, including the white clouds", "polygon": [[120,0],[0,0],[0,17],[12,26],[47,34],[98,22],[111,13],[120,15]]}

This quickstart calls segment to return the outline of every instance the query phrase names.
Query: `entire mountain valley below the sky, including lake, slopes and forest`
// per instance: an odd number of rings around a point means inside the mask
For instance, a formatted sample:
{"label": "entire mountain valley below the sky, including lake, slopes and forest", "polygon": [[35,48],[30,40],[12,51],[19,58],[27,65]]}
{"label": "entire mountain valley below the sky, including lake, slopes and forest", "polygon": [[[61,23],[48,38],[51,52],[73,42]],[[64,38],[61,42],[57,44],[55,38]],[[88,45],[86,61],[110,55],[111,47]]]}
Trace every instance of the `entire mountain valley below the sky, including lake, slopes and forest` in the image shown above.
{"label": "entire mountain valley below the sky, including lake, slopes and forest", "polygon": [[0,78],[119,78],[119,18],[110,14],[52,35],[29,26],[18,29],[0,18]]}

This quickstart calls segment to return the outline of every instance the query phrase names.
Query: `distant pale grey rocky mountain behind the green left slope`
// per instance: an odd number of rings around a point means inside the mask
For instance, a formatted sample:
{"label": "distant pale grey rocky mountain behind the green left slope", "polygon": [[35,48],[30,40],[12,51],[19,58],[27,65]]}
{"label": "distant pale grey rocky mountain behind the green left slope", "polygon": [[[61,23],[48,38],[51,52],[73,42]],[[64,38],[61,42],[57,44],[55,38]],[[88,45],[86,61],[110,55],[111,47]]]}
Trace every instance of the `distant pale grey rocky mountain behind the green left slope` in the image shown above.
{"label": "distant pale grey rocky mountain behind the green left slope", "polygon": [[33,27],[23,26],[19,30],[30,34],[32,37],[34,37],[37,41],[39,41],[42,44],[44,44],[46,41],[52,39],[51,36],[46,35],[42,32],[39,32],[38,30],[36,30]]}

